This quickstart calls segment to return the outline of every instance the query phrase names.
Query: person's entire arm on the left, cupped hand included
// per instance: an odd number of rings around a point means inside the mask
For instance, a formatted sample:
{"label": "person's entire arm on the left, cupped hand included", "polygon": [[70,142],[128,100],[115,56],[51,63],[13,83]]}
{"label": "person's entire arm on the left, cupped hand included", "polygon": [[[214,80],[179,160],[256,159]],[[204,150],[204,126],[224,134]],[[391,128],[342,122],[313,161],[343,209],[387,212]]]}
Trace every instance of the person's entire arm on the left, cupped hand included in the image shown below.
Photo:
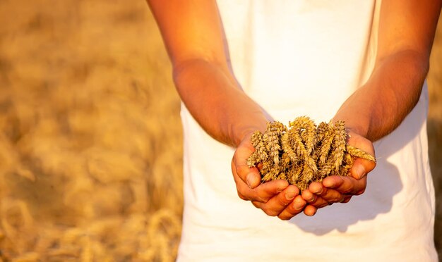
{"label": "person's entire arm on the left, cupped hand included", "polygon": [[[205,132],[237,147],[232,173],[239,196],[251,200],[265,213],[277,216],[299,190],[285,180],[261,185],[258,170],[246,166],[246,158],[254,150],[250,134],[265,130],[268,118],[234,78],[215,1],[149,0],[148,4],[172,61],[181,100]],[[298,200],[305,204],[300,196]],[[300,211],[287,212],[294,215]]]}

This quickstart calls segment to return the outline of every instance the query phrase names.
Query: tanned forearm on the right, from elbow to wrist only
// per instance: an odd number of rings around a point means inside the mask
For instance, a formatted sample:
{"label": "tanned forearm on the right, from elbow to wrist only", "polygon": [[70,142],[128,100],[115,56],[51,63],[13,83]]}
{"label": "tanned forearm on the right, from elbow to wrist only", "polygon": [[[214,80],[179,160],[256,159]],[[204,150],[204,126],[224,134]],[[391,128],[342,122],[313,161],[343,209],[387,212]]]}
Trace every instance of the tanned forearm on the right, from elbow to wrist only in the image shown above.
{"label": "tanned forearm on the right, from elbow to wrist only", "polygon": [[342,104],[335,120],[345,120],[350,129],[371,141],[381,139],[417,104],[428,68],[428,56],[416,51],[386,56],[366,84]]}

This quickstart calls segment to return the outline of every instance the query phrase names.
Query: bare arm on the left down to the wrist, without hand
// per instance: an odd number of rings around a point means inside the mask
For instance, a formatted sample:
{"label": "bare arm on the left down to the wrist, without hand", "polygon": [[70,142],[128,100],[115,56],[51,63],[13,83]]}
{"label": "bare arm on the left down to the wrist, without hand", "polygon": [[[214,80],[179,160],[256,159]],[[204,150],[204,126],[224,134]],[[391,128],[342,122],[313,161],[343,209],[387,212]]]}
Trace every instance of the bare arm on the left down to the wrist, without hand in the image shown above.
{"label": "bare arm on the left down to the wrist, without hand", "polygon": [[261,108],[230,70],[215,1],[148,1],[172,61],[174,82],[193,118],[218,141],[238,146],[265,128]]}

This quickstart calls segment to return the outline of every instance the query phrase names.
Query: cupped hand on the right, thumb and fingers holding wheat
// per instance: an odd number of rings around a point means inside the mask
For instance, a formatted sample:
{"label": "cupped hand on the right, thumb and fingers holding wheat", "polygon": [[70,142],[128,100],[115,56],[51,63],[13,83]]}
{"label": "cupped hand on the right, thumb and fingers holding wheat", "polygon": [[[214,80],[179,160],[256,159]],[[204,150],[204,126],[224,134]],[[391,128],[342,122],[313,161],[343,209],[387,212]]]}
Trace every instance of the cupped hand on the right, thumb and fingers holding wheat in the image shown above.
{"label": "cupped hand on the right, thumb and fingers holding wheat", "polygon": [[[352,132],[352,130],[349,130],[347,142],[374,156],[374,147],[369,139]],[[323,208],[333,203],[347,203],[352,196],[363,194],[366,189],[366,175],[375,166],[374,162],[356,158],[349,176],[332,175],[326,177],[322,183],[312,182],[309,188],[302,192],[302,198],[308,203],[306,210],[316,212],[316,208]]]}

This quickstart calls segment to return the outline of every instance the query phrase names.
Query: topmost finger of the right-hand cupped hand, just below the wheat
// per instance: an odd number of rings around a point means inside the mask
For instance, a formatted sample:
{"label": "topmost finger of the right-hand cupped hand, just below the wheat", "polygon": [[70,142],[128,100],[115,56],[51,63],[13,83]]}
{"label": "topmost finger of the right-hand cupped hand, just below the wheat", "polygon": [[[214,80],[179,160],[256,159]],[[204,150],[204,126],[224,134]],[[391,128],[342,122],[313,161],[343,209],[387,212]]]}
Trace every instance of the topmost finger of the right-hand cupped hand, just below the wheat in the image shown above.
{"label": "topmost finger of the right-hand cupped hand, just below the wheat", "polygon": [[353,177],[331,175],[323,180],[323,185],[337,190],[341,194],[362,194],[366,188],[366,177],[356,180]]}

